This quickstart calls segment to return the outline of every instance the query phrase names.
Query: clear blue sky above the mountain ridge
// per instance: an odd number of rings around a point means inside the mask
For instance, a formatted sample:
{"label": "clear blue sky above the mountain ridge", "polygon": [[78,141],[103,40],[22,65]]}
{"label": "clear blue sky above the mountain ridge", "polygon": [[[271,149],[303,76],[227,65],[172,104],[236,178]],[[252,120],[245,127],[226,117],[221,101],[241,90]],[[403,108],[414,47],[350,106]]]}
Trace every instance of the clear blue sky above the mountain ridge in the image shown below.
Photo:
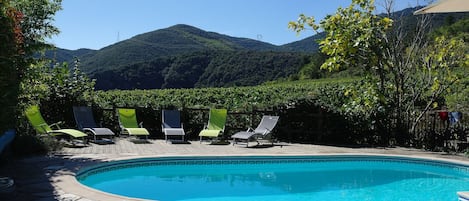
{"label": "clear blue sky above the mountain ridge", "polygon": [[[378,10],[382,0],[376,0]],[[63,0],[55,16],[61,33],[49,42],[57,47],[101,49],[135,35],[176,24],[234,37],[257,39],[275,45],[301,40],[289,21],[303,13],[317,20],[333,14],[351,0]],[[417,5],[396,0],[395,10]],[[382,10],[382,9],[381,9]]]}

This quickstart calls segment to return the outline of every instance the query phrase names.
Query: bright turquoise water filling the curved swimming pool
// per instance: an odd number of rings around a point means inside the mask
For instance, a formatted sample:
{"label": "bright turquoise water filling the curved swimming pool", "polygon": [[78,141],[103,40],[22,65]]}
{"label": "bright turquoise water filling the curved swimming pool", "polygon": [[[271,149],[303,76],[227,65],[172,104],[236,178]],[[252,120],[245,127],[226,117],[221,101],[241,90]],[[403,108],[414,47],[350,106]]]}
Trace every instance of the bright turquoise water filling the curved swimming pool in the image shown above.
{"label": "bright turquoise water filling the curved swimming pool", "polygon": [[456,201],[469,167],[387,156],[172,157],[84,169],[82,184],[161,201]]}

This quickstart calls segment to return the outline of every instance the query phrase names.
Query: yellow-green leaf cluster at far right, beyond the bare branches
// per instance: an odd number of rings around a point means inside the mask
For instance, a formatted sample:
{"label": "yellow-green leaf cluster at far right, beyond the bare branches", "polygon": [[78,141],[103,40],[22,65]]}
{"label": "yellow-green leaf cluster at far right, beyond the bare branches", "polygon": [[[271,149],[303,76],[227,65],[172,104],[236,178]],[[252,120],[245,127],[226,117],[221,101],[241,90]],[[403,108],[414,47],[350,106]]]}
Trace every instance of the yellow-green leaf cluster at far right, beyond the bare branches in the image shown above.
{"label": "yellow-green leaf cluster at far right, beyond the bare branches", "polygon": [[[412,122],[412,131],[424,115],[423,113],[430,109],[442,108],[446,104],[442,99],[452,93],[460,93],[460,91],[451,92],[450,89],[456,89],[455,85],[464,77],[465,73],[458,71],[469,66],[469,46],[461,37],[448,37],[438,36],[431,39],[429,43],[423,44],[420,49],[415,49],[413,53],[408,54],[407,58],[417,58],[408,64],[416,68],[416,71],[410,68],[409,75],[402,76],[401,82],[411,79],[407,83],[409,85],[407,91],[410,94],[407,98],[413,99],[407,104],[402,101],[401,105],[407,109],[411,108],[406,112],[412,112],[416,116]],[[420,113],[413,108],[415,106],[423,108]]]}

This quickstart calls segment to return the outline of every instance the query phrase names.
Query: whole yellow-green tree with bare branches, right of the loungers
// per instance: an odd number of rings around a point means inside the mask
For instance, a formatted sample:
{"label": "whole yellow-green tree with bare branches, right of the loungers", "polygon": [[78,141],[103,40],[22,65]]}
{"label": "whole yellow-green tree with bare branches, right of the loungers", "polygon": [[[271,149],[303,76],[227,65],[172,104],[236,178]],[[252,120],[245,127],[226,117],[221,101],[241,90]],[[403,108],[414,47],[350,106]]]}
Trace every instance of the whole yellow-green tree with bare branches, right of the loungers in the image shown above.
{"label": "whole yellow-green tree with bare branches, right of the loungers", "polygon": [[350,97],[337,106],[344,114],[369,118],[370,128],[380,133],[382,143],[394,138],[408,144],[412,141],[408,134],[423,114],[437,107],[459,79],[452,69],[467,61],[467,51],[461,51],[467,46],[445,37],[427,40],[428,16],[420,18],[413,32],[396,26],[392,5],[392,0],[385,1],[387,16],[378,16],[373,0],[352,0],[349,7],[339,8],[319,24],[302,14],[289,27],[297,32],[307,26],[326,32],[320,49],[329,58],[322,69],[356,67],[367,73],[362,86],[343,92]]}

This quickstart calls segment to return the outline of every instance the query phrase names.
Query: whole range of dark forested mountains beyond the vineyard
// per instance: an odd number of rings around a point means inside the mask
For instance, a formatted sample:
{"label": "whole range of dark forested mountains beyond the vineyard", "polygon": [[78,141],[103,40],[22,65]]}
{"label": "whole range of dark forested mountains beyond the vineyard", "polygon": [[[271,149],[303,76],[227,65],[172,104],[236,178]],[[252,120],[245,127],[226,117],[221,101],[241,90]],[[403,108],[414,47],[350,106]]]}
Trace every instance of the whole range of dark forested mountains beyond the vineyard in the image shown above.
{"label": "whole range of dark forested mountains beyond the vineyard", "polygon": [[[418,17],[408,8],[393,13],[412,33]],[[454,23],[467,13],[432,15],[432,26]],[[292,32],[294,34],[294,32]],[[276,46],[262,41],[175,25],[134,36],[100,50],[47,52],[57,61],[81,61],[81,69],[97,79],[97,89],[191,88],[245,86],[295,75],[318,49],[319,33]]]}

